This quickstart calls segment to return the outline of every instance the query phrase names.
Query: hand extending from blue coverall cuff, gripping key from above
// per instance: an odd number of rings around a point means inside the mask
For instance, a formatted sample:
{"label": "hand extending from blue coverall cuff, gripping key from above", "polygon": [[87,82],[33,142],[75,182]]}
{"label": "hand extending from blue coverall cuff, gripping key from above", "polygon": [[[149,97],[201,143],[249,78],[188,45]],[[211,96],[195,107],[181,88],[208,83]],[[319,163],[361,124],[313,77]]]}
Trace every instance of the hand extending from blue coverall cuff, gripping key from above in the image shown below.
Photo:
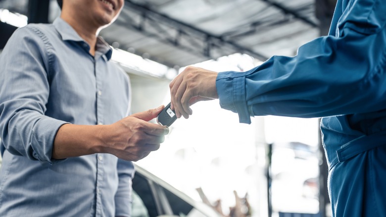
{"label": "hand extending from blue coverall cuff, gripping key from above", "polygon": [[217,72],[188,66],[170,83],[171,109],[178,118],[192,115],[191,105],[198,101],[217,99]]}

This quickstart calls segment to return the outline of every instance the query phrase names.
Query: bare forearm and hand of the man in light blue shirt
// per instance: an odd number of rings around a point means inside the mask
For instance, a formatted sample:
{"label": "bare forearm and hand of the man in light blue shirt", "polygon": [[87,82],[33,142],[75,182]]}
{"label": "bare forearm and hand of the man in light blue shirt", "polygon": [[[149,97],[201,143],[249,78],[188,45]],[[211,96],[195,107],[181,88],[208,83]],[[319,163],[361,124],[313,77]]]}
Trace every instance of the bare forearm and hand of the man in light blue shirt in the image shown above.
{"label": "bare forearm and hand of the man in light blue shirt", "polygon": [[150,123],[164,108],[150,109],[110,125],[64,124],[56,133],[53,159],[109,153],[127,161],[138,161],[159,149],[169,128]]}

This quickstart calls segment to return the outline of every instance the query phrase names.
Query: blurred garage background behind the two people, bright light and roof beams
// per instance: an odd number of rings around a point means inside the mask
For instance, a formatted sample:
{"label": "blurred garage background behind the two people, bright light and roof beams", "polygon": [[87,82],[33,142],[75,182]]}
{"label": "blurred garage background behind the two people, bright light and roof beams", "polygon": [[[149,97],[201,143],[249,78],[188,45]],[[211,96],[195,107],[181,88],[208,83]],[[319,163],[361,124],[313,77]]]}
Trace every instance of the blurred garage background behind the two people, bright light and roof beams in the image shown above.
{"label": "blurred garage background behind the two people, bright light and roof beams", "polygon": [[[327,34],[335,3],[125,0],[100,35],[131,78],[135,113],[168,104],[169,82],[188,65],[245,71],[296,55]],[[0,0],[0,50],[16,28],[59,15],[56,0]],[[263,116],[246,125],[217,100],[192,109],[138,166],[224,216],[330,216],[317,118]]]}

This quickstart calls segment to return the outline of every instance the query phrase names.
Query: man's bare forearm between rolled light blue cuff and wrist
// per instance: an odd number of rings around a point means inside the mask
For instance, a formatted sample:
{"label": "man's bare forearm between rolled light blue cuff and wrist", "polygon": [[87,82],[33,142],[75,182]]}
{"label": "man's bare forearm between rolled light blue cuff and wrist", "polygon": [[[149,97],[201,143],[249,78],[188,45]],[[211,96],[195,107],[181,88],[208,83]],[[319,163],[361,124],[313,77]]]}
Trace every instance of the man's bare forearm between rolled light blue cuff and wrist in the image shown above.
{"label": "man's bare forearm between rolled light blue cuff and wrist", "polygon": [[56,133],[53,159],[65,159],[100,153],[103,150],[104,125],[64,124]]}

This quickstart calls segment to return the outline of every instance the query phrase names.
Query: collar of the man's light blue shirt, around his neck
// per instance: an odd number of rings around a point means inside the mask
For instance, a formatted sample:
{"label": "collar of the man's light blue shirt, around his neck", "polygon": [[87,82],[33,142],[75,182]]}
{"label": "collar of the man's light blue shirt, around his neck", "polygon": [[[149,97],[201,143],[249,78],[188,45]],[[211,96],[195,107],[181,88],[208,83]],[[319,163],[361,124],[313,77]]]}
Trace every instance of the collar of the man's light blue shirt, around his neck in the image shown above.
{"label": "collar of the man's light blue shirt, around his neck", "polygon": [[[57,17],[53,21],[53,26],[62,37],[63,41],[87,43],[82,39],[82,37],[78,35],[78,33],[70,26],[70,24],[68,24],[62,18]],[[100,36],[97,37],[96,51],[105,54],[108,60],[111,58],[112,49]]]}

